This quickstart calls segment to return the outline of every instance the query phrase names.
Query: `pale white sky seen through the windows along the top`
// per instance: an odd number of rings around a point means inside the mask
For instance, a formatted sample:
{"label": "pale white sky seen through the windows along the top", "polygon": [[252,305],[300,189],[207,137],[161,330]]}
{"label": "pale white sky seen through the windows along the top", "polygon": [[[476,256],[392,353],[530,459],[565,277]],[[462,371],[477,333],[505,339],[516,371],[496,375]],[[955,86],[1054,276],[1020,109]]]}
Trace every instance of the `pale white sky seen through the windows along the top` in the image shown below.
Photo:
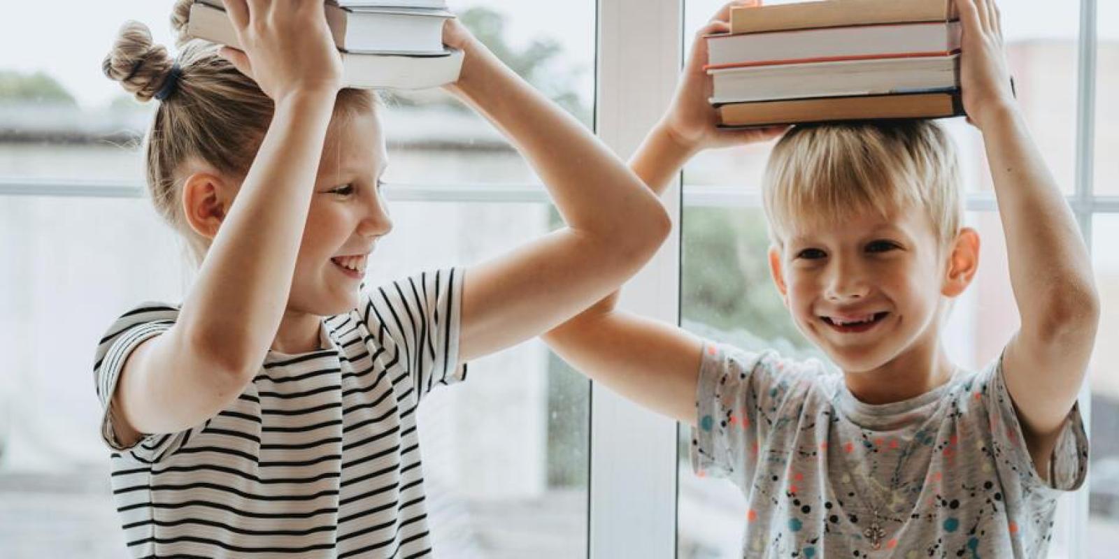
{"label": "pale white sky seen through the windows along the top", "polygon": [[[612,0],[603,0],[612,1]],[[665,1],[665,0],[649,0]],[[771,3],[786,3],[788,0]],[[57,0],[16,1],[0,20],[0,69],[45,70],[58,78],[84,106],[100,106],[123,93],[101,74],[101,59],[109,51],[117,28],[128,19],[148,25],[158,42],[172,45],[172,0]],[[449,0],[452,10],[487,6],[507,17],[509,41],[526,45],[536,37],[557,40],[564,48],[564,65],[593,68],[594,12],[592,0]],[[1099,35],[1119,40],[1119,0],[1098,0]],[[687,0],[688,35],[722,4],[721,0]],[[1008,40],[1074,38],[1079,27],[1079,2],[1070,0],[1003,0],[1004,30]],[[45,22],[56,21],[55,26]]]}

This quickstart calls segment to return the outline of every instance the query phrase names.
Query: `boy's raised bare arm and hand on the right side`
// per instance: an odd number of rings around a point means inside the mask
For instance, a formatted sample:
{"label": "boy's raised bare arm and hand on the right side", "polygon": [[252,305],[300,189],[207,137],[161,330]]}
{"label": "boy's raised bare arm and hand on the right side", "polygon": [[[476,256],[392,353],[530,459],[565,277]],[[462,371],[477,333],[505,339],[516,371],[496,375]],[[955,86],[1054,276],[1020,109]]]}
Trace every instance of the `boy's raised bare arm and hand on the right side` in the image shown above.
{"label": "boy's raised bare arm and hand on the right side", "polygon": [[1047,479],[1096,341],[1099,297],[1076,221],[1015,104],[998,8],[994,0],[958,3],[963,107],[982,132],[1022,316],[1003,369],[1034,464]]}

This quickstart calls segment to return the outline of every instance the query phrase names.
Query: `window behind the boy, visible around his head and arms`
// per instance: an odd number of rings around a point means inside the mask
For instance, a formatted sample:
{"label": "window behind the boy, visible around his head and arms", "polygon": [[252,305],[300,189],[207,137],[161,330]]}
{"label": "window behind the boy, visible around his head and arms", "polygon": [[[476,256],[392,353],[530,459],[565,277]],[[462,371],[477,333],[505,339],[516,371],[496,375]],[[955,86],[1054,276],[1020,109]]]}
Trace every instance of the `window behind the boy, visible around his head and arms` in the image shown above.
{"label": "window behind the boy, visible around his head and arms", "polygon": [[[768,2],[771,3],[771,2]],[[786,2],[777,2],[786,3]],[[1106,3],[1106,2],[1101,2]],[[688,0],[685,2],[685,37],[704,25],[721,2]],[[1078,195],[1078,168],[1084,163],[1084,153],[1078,152],[1078,134],[1083,121],[1078,120],[1080,87],[1091,84],[1092,76],[1078,74],[1081,49],[1081,15],[1076,4],[1054,8],[1034,0],[1004,0],[1003,26],[1006,34],[1007,56],[1015,76],[1018,101],[1045,161],[1052,169],[1062,190],[1070,197]],[[1098,100],[1108,97],[1107,64],[1115,46],[1109,39],[1108,26],[1115,27],[1115,10],[1107,3],[1100,8]],[[1119,35],[1119,28],[1110,30]],[[1112,87],[1113,89],[1113,87]],[[1111,97],[1115,96],[1110,92]],[[1096,153],[1107,153],[1103,148],[1115,139],[1115,126],[1103,120],[1111,103],[1097,102]],[[965,177],[967,198],[966,225],[978,229],[982,239],[980,268],[968,291],[956,304],[946,328],[944,343],[956,362],[971,369],[982,367],[998,356],[1018,325],[1017,309],[1010,291],[1006,264],[1006,247],[1002,224],[993,198],[993,184],[987,170],[982,139],[978,131],[962,119],[941,121],[957,143]],[[761,210],[761,177],[771,145],[751,145],[700,154],[684,172],[683,212],[683,271],[681,323],[697,334],[726,341],[746,349],[777,348],[793,357],[824,358],[793,326],[782,305],[765,262],[769,246],[764,216]],[[1096,169],[1097,193],[1111,193],[1116,182],[1113,161],[1099,161]],[[1110,165],[1110,167],[1109,167]],[[1107,174],[1111,170],[1110,174]],[[1071,198],[1076,201],[1076,198]],[[1087,199],[1084,199],[1087,201]],[[1107,208],[1111,208],[1107,206]],[[1082,207],[1081,222],[1090,227],[1094,244],[1094,258],[1101,292],[1109,276],[1107,264],[1115,259],[1113,247],[1100,240],[1107,233],[1103,227],[1111,216],[1101,203]],[[1115,211],[1113,208],[1107,211]],[[1113,266],[1112,266],[1113,268]],[[1116,278],[1110,277],[1111,284]],[[1104,295],[1107,296],[1107,295]],[[1104,301],[1108,309],[1108,301]],[[1106,313],[1108,311],[1104,311]],[[1092,475],[1090,489],[1065,496],[1057,515],[1057,529],[1051,546],[1053,557],[1088,557],[1089,550],[1106,553],[1106,543],[1119,539],[1119,499],[1107,490],[1109,482],[1098,480],[1104,475],[1108,457],[1119,463],[1119,451],[1107,433],[1115,430],[1117,421],[1110,410],[1108,376],[1099,363],[1109,362],[1103,354],[1103,343],[1109,330],[1101,324],[1101,341],[1091,376],[1092,414]],[[1112,344],[1113,345],[1113,344]],[[1101,416],[1101,414],[1104,414]],[[1104,423],[1101,423],[1104,421]],[[681,429],[679,447],[679,504],[678,555],[683,558],[741,557],[741,534],[744,529],[745,501],[728,482],[698,479],[692,473],[687,459],[690,442],[687,429]],[[1103,461],[1103,462],[1101,462]],[[1117,470],[1119,471],[1119,470]],[[1110,483],[1113,485],[1113,483]],[[1087,527],[1079,510],[1091,494],[1092,518]],[[1109,504],[1110,503],[1110,504]],[[1087,531],[1090,543],[1080,546]],[[1096,552],[1096,551],[1092,551]],[[1094,557],[1094,556],[1092,556]],[[1102,557],[1102,556],[1100,556]]]}

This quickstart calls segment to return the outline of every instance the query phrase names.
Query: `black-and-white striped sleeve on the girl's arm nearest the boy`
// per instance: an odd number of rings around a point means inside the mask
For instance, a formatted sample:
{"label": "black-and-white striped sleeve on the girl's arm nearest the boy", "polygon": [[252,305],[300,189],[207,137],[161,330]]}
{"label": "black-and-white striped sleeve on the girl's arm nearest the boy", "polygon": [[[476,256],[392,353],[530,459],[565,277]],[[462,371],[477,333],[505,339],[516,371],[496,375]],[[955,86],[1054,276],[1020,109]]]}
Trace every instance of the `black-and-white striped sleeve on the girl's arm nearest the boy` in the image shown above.
{"label": "black-and-white striped sleeve on the girl's arm nearest the boy", "polygon": [[402,363],[422,398],[467,378],[459,363],[463,271],[424,272],[365,293],[363,319],[370,334]]}

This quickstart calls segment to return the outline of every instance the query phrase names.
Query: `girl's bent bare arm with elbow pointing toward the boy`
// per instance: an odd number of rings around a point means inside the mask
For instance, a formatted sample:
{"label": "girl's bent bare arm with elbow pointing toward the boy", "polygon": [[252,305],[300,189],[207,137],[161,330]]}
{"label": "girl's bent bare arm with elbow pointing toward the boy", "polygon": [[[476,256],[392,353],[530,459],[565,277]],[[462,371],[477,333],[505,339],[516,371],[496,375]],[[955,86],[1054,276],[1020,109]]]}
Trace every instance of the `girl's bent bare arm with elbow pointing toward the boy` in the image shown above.
{"label": "girl's bent bare arm with elbow pointing toward the boy", "polygon": [[457,21],[444,42],[466,53],[450,89],[516,144],[567,224],[467,271],[459,353],[468,361],[539,335],[617,290],[652,257],[670,222],[624,163]]}

